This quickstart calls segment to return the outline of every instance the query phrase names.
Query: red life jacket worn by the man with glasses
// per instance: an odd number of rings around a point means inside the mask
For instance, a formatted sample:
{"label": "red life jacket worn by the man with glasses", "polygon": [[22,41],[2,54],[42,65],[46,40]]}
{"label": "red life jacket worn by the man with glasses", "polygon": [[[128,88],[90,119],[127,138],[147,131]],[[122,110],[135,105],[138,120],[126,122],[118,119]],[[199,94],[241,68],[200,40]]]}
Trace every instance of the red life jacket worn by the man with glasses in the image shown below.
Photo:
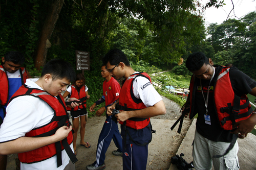
{"label": "red life jacket worn by the man with glasses", "polygon": [[[119,105],[120,110],[129,111],[129,110],[140,110],[146,108],[144,103],[141,101],[141,99],[137,99],[134,96],[133,93],[133,81],[136,77],[142,76],[150,80],[150,76],[146,74],[145,72],[142,73],[136,73],[128,77],[121,88],[120,95],[119,95]],[[132,117],[125,121],[125,125],[127,127],[133,128],[133,129],[143,129],[148,124],[150,124],[150,117],[148,118],[138,118],[138,117]],[[119,122],[121,125],[124,124],[124,122]]]}

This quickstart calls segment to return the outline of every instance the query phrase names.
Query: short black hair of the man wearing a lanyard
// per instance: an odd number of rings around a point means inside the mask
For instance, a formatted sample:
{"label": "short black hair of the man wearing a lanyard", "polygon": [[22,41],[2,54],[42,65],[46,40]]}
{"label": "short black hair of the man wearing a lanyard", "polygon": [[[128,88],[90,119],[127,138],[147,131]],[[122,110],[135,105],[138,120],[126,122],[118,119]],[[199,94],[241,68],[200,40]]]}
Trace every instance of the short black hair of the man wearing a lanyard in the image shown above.
{"label": "short black hair of the man wearing a lanyard", "polygon": [[209,59],[202,52],[196,52],[196,53],[190,54],[186,61],[186,67],[189,71],[197,71],[204,64],[207,65],[210,63],[209,63]]}

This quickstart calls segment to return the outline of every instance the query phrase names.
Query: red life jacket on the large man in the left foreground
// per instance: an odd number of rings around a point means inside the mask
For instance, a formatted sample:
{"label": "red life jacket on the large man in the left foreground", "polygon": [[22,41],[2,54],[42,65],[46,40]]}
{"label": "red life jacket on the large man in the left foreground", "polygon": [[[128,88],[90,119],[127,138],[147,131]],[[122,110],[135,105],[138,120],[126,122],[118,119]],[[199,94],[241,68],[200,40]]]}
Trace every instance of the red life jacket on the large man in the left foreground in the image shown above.
{"label": "red life jacket on the large man in the left foreground", "polygon": [[[14,98],[23,95],[30,95],[39,98],[45,101],[54,110],[54,116],[50,123],[42,127],[32,129],[30,132],[25,134],[26,137],[51,136],[55,134],[57,129],[59,129],[60,127],[64,125],[69,127],[71,125],[71,123],[69,122],[69,114],[66,110],[65,101],[63,100],[61,95],[57,96],[58,99],[56,99],[54,96],[50,95],[46,91],[35,88],[28,88],[26,85],[23,85],[13,94],[12,98],[10,99],[10,102]],[[76,161],[76,157],[74,156],[70,148],[70,144],[72,143],[72,141],[73,134],[71,131],[68,137],[63,139],[62,141],[48,144],[44,147],[35,149],[33,151],[19,153],[18,158],[20,162],[23,163],[34,163],[46,160],[48,158],[53,157],[54,155],[57,155],[57,165],[60,166],[62,164],[61,151],[65,149],[72,162],[74,162]]]}

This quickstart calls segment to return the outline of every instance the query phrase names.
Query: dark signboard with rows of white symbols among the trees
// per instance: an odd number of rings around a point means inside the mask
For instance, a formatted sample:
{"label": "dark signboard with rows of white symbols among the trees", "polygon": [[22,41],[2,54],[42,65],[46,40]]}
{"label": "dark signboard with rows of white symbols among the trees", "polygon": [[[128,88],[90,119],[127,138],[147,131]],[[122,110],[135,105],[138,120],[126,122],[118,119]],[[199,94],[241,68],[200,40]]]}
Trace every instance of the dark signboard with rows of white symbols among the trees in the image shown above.
{"label": "dark signboard with rows of white symbols among the trees", "polygon": [[76,50],[76,70],[90,70],[90,53]]}

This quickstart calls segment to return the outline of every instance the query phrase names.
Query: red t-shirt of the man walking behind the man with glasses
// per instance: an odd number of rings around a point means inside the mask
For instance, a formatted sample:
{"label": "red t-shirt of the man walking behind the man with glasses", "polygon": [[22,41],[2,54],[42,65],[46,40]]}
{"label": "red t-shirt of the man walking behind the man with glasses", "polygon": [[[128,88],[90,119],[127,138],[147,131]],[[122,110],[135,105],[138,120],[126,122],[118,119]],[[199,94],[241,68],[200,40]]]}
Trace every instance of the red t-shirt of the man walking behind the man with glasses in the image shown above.
{"label": "red t-shirt of the man walking behind the man with glasses", "polygon": [[105,105],[112,104],[119,98],[120,85],[113,77],[109,82],[103,82],[103,95],[105,96]]}

